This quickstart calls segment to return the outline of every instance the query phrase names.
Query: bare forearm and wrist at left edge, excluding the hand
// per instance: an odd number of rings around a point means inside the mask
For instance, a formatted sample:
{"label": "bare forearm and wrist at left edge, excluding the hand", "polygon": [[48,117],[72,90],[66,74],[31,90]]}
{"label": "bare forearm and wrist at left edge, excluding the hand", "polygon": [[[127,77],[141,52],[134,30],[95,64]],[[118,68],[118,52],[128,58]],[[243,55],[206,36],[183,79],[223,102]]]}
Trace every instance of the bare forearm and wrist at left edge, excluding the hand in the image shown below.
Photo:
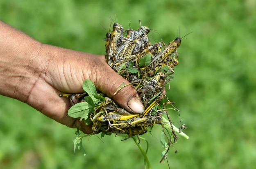
{"label": "bare forearm and wrist at left edge, excluding the hand", "polygon": [[41,72],[41,43],[0,21],[0,94],[26,102]]}

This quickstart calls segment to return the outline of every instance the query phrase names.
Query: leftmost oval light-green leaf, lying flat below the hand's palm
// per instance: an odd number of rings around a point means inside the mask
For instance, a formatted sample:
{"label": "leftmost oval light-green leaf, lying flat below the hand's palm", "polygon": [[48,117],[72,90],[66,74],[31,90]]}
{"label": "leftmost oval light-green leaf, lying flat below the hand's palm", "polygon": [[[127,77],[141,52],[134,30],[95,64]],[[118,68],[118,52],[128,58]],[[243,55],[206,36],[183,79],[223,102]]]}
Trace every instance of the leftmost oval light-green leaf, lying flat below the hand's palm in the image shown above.
{"label": "leftmost oval light-green leaf, lying flat below the hand's palm", "polygon": [[73,118],[88,117],[88,113],[91,108],[93,107],[87,102],[77,103],[68,110],[68,115]]}

